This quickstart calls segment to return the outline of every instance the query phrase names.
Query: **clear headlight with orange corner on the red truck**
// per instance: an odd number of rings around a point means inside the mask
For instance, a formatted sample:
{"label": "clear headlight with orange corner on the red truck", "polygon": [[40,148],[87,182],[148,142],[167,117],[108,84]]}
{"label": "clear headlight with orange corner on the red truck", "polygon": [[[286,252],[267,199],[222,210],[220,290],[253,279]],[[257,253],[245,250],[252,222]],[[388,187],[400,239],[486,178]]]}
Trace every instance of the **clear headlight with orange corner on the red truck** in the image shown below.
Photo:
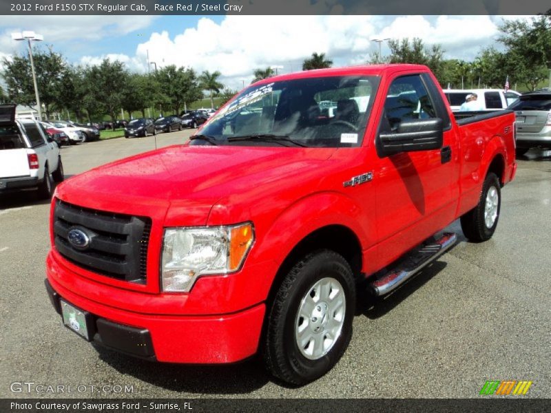
{"label": "clear headlight with orange corner on the red truck", "polygon": [[167,228],[163,240],[163,291],[187,293],[202,275],[238,271],[253,244],[253,224]]}

